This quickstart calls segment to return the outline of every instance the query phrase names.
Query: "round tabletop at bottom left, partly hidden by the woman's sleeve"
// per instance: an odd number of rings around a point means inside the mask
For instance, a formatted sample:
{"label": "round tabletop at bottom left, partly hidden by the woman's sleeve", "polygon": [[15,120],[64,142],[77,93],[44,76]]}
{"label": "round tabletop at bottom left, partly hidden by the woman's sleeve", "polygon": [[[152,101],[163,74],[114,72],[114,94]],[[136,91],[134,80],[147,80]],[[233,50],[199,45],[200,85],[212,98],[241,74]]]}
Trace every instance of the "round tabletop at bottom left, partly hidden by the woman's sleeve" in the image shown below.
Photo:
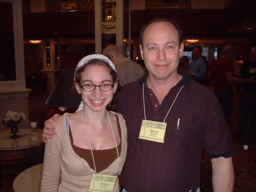
{"label": "round tabletop at bottom left, partly hidden by the woman's sleeve", "polygon": [[40,192],[43,164],[32,166],[21,172],[13,182],[15,192]]}

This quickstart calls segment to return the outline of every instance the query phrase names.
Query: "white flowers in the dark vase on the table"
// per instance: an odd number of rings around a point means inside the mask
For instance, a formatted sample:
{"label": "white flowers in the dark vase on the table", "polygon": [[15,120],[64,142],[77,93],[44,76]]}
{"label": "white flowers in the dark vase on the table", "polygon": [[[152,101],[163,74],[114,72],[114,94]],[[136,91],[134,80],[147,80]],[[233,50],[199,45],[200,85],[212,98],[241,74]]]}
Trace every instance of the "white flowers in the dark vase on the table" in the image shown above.
{"label": "white flowers in the dark vase on the table", "polygon": [[7,127],[12,127],[13,125],[17,125],[18,123],[26,120],[26,115],[22,112],[8,111],[5,114],[5,118],[2,121],[2,124],[7,125]]}

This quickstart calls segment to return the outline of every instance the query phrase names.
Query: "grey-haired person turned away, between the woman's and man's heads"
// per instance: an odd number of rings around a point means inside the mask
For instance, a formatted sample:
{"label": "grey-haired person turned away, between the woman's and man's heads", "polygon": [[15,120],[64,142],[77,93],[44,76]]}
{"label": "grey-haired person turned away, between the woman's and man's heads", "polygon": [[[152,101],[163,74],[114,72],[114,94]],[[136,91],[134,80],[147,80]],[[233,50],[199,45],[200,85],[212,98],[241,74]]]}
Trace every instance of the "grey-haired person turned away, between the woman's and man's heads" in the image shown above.
{"label": "grey-haired person turned away, between the woman's and man's heads", "polygon": [[110,44],[104,48],[103,54],[109,56],[116,66],[118,83],[122,87],[147,73],[146,68],[126,57],[124,48],[121,46]]}

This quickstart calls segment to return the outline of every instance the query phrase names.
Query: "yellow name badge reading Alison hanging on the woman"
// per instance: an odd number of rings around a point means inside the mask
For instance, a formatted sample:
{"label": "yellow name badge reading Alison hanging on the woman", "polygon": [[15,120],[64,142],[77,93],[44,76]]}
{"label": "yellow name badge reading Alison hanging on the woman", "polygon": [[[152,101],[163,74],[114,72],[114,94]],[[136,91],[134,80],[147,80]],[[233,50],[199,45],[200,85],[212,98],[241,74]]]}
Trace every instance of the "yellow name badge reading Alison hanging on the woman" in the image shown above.
{"label": "yellow name badge reading Alison hanging on the woman", "polygon": [[117,176],[92,174],[89,192],[113,192]]}

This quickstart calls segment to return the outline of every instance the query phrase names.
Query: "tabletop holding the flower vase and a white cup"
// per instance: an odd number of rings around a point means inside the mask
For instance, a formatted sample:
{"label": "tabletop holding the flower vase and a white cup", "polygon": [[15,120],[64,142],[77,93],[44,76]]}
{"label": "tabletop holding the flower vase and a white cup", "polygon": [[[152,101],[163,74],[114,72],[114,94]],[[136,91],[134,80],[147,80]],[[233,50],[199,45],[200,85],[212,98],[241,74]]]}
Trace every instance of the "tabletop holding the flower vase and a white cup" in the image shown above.
{"label": "tabletop holding the flower vase and a white cup", "polygon": [[10,138],[12,134],[10,130],[0,131],[0,150],[18,150],[26,149],[30,146],[43,144],[42,141],[42,129],[37,129],[35,132],[32,132],[31,129],[19,129],[17,135],[20,138]]}

